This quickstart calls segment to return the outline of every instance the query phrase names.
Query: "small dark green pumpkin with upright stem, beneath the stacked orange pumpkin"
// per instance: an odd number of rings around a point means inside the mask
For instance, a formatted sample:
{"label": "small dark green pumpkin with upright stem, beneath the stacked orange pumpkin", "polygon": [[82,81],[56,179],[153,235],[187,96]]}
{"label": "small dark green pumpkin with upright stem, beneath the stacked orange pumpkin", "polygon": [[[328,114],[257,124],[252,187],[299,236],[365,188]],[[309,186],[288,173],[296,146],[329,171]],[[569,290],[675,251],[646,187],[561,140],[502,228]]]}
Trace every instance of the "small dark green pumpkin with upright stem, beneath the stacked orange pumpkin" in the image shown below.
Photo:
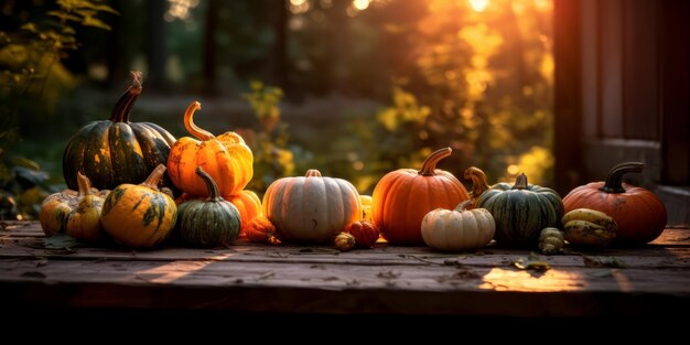
{"label": "small dark green pumpkin with upright stem, beneath the stacked orange pumpkin", "polygon": [[220,196],[216,182],[201,166],[196,168],[196,174],[206,183],[208,197],[191,200],[180,205],[174,231],[180,239],[192,246],[228,246],[239,235],[239,211]]}

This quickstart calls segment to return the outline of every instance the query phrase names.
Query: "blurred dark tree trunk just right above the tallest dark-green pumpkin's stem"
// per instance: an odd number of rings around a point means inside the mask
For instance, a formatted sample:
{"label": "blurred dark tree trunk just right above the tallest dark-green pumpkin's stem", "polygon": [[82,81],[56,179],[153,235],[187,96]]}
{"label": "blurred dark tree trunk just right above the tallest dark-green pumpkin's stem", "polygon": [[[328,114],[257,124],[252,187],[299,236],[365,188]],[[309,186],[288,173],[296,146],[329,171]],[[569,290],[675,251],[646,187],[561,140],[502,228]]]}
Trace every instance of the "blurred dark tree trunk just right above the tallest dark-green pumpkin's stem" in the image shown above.
{"label": "blurred dark tree trunk just right above the tallest dark-green pumpkin's stem", "polygon": [[168,58],[168,46],[165,44],[165,0],[149,0],[147,6],[145,23],[145,50],[148,75],[144,75],[144,85],[149,89],[166,90],[165,62]]}

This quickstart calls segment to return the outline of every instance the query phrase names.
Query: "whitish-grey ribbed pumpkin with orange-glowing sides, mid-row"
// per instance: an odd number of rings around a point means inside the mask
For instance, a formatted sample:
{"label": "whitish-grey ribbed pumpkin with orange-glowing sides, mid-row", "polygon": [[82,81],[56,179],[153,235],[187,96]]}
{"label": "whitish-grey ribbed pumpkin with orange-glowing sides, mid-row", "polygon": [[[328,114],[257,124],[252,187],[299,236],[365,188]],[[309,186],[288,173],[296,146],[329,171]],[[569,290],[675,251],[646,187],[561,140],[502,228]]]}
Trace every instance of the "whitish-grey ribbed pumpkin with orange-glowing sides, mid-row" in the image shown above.
{"label": "whitish-grey ribbed pumpkin with orange-glowing sides, mid-row", "polygon": [[283,240],[328,244],[362,218],[362,204],[352,183],[309,170],[304,176],[271,183],[263,195],[263,214]]}

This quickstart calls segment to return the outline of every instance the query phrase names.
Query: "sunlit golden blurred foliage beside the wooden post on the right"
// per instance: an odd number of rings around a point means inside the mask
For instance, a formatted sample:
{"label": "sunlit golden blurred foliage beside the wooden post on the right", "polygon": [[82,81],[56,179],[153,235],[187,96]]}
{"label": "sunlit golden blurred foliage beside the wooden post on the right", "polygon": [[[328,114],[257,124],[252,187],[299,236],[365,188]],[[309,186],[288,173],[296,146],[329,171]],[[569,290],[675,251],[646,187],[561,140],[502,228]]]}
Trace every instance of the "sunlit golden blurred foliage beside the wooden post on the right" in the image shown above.
{"label": "sunlit golden blurred foliage beside the wooden post on the right", "polygon": [[[409,157],[451,147],[446,160],[461,175],[481,166],[489,179],[530,171],[549,185],[553,158],[550,2],[490,2],[477,12],[467,1],[430,0],[423,15],[405,25],[414,62],[411,83],[392,87],[392,104],[377,120],[413,136]],[[393,23],[395,24],[395,23]],[[412,96],[414,95],[414,96]],[[493,177],[492,177],[493,176]]]}

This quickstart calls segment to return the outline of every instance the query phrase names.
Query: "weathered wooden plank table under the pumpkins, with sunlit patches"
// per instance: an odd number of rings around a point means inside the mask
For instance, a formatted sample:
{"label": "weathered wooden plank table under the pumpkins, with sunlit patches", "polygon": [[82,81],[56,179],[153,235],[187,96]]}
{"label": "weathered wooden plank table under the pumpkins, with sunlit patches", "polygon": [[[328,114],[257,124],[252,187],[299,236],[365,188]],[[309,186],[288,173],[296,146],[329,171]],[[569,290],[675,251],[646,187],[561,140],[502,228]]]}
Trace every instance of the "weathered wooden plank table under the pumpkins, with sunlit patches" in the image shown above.
{"label": "weathered wooden plank table under the pumpkins, with sunlit patches", "polygon": [[540,256],[489,246],[440,254],[423,247],[265,246],[130,250],[46,249],[36,223],[2,223],[0,305],[235,313],[601,316],[690,305],[690,229],[668,228],[643,248]]}

